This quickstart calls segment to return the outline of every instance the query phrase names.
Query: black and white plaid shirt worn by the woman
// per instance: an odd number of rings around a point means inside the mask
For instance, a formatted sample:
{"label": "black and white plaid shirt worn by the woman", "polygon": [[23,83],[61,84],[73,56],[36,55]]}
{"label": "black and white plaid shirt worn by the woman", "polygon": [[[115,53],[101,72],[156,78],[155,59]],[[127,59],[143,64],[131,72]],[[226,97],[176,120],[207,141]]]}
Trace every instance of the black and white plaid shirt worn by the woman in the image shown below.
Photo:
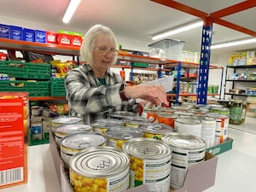
{"label": "black and white plaid shirt worn by the woman", "polygon": [[70,115],[82,117],[85,124],[108,118],[113,111],[137,113],[134,100],[123,102],[119,96],[124,81],[118,73],[108,70],[106,84],[99,84],[90,65],[83,65],[67,73],[65,87]]}

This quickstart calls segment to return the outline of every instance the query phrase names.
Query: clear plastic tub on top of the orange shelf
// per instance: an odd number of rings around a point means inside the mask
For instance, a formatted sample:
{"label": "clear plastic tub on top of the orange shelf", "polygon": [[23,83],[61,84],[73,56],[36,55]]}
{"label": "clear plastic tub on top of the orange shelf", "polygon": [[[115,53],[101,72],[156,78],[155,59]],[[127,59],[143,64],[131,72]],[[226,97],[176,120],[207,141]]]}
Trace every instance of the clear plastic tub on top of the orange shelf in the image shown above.
{"label": "clear plastic tub on top of the orange shelf", "polygon": [[174,40],[174,39],[163,39],[154,44],[149,44],[149,51],[151,49],[163,49],[165,52],[164,59],[177,60],[181,61],[182,51],[183,51],[183,41]]}

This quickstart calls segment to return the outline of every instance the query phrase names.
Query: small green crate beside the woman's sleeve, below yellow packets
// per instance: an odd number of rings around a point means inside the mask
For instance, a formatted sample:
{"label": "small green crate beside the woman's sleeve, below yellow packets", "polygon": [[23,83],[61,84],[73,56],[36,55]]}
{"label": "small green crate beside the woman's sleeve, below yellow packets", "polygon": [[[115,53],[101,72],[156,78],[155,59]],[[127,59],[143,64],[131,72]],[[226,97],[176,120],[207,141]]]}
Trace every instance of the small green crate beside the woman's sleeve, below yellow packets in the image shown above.
{"label": "small green crate beside the woman's sleeve, below yellow packets", "polygon": [[66,96],[65,79],[50,79],[50,96]]}

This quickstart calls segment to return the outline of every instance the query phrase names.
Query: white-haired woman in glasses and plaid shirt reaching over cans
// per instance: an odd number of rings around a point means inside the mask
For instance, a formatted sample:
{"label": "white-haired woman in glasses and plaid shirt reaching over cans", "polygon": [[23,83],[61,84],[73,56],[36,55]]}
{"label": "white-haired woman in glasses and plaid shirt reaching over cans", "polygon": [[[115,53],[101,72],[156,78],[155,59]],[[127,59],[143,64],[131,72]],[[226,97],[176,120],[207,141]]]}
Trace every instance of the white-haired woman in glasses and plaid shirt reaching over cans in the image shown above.
{"label": "white-haired woman in glasses and plaid shirt reaching over cans", "polygon": [[118,43],[109,27],[92,26],[84,36],[80,55],[87,63],[67,73],[65,86],[70,115],[82,117],[84,123],[108,118],[113,111],[137,113],[137,98],[168,105],[162,86],[125,86],[120,75],[109,70],[118,55]]}

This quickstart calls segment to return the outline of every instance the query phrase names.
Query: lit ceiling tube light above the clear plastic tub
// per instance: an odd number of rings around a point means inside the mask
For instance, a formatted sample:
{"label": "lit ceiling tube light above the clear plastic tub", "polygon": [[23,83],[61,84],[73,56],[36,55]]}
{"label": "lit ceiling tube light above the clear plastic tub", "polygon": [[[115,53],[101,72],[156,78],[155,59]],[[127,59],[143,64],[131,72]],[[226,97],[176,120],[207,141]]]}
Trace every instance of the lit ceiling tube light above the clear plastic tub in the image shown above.
{"label": "lit ceiling tube light above the clear plastic tub", "polygon": [[202,26],[203,24],[204,24],[203,21],[189,23],[188,25],[184,25],[184,26],[178,27],[178,28],[173,29],[171,31],[162,32],[162,33],[159,33],[157,35],[154,35],[152,37],[152,40],[158,40],[160,38],[166,38],[167,36],[171,36],[171,35],[177,34],[179,32],[185,32],[185,31],[188,31],[190,29],[194,29],[195,27]]}

